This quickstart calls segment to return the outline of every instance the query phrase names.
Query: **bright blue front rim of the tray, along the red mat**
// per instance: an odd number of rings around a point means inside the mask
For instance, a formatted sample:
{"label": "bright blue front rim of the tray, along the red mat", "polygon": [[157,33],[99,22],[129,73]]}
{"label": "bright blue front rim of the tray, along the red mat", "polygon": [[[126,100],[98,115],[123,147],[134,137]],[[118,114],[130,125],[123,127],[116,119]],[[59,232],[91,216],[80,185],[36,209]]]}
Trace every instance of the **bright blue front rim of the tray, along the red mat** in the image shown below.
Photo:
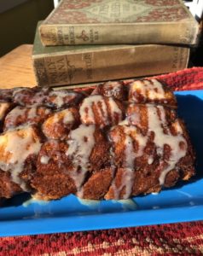
{"label": "bright blue front rim of the tray, along the red mat", "polygon": [[[186,210],[187,214],[185,214]],[[174,213],[174,211],[176,212],[176,215],[173,215],[173,218],[171,218],[171,214]],[[150,218],[148,218],[149,213]],[[141,220],[136,222],[135,217],[141,218]],[[157,219],[158,217],[159,220]],[[51,218],[29,218],[2,221],[0,222],[0,237],[27,236],[87,230],[107,230],[154,224],[172,224],[178,222],[197,221],[203,219],[203,202],[202,205],[195,205],[191,207],[165,207],[153,210],[139,210],[136,212],[131,211],[102,213],[102,224],[98,225],[98,220],[100,220],[100,218],[101,214],[90,214],[85,216],[61,216]],[[75,221],[76,219],[77,221]],[[57,222],[57,225],[53,225],[55,221]],[[38,224],[40,224],[40,228],[38,228]]]}

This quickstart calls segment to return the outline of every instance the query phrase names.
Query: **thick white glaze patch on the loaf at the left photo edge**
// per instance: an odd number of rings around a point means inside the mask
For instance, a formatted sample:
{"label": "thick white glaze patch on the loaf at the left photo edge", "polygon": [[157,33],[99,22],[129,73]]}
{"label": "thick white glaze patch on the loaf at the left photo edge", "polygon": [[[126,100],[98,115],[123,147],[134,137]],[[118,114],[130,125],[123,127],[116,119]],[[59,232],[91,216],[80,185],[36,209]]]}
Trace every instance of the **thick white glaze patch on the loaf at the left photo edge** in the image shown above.
{"label": "thick white glaze patch on the loaf at the left photo edge", "polygon": [[41,143],[32,127],[7,131],[0,136],[0,168],[10,172],[14,183],[21,189],[27,190],[26,183],[19,177],[23,171],[26,158],[31,154],[38,154]]}

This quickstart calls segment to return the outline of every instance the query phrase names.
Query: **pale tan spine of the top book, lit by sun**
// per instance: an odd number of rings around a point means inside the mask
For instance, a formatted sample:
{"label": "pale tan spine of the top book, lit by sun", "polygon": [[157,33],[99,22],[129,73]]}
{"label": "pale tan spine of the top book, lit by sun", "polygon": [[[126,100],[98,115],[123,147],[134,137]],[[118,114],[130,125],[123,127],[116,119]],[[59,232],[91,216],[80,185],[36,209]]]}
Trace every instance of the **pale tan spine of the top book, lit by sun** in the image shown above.
{"label": "pale tan spine of the top book, lit by sun", "polygon": [[136,23],[107,25],[44,25],[39,27],[45,46],[76,44],[196,44],[198,24]]}

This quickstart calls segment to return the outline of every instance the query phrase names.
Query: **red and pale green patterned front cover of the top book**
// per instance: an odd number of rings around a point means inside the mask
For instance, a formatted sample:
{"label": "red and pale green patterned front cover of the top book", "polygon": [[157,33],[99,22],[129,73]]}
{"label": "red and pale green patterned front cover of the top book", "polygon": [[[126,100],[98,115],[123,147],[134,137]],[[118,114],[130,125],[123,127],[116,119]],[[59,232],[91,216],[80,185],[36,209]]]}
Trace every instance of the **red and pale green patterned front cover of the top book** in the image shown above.
{"label": "red and pale green patterned front cover of the top book", "polygon": [[134,23],[191,19],[179,0],[63,0],[47,24]]}

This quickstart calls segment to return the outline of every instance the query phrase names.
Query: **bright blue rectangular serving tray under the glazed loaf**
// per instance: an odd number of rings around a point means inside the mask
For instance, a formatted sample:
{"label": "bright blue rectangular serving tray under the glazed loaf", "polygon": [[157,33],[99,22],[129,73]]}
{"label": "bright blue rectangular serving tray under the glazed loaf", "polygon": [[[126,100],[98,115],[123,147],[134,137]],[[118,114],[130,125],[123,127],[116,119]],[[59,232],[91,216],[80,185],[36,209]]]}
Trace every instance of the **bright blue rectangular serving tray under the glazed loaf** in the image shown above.
{"label": "bright blue rectangular serving tray under the glazed loaf", "polygon": [[[0,207],[0,236],[102,230],[203,219],[203,90],[176,92],[178,114],[197,154],[197,175],[187,183],[130,201],[79,201],[69,195],[49,203],[25,203],[18,195]],[[29,202],[29,201],[28,201]]]}

